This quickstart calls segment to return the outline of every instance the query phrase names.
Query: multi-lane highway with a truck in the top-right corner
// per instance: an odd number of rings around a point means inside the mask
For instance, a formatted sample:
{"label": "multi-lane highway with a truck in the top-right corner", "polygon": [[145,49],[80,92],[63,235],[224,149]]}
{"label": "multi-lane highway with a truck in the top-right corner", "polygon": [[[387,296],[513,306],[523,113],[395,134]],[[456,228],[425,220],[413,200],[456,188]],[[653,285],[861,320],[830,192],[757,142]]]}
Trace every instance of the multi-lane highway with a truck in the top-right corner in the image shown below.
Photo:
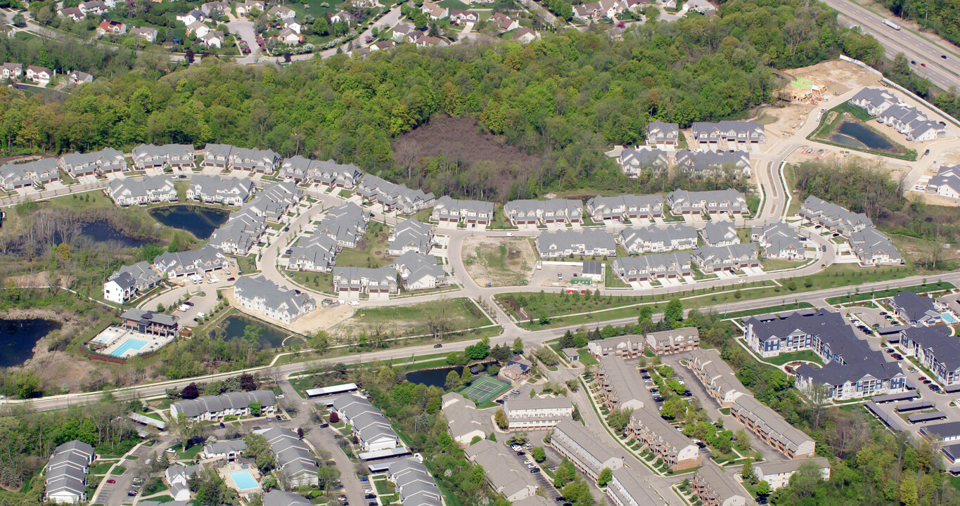
{"label": "multi-lane highway with a truck in the top-right corner", "polygon": [[[883,21],[890,19],[894,23],[902,24],[900,18],[892,13],[884,17],[850,0],[835,0],[830,2],[829,6],[840,12],[841,22],[846,22],[847,26],[857,25],[864,34],[874,36],[886,49],[887,58],[890,60],[898,53],[903,53],[917,62],[916,65],[911,65],[914,72],[931,83],[943,89],[960,84],[960,56],[957,48],[949,42],[932,42],[939,39],[935,34],[919,36],[906,28],[894,30],[883,24]],[[946,60],[941,58],[945,55]],[[920,63],[925,63],[926,66],[921,66]]]}

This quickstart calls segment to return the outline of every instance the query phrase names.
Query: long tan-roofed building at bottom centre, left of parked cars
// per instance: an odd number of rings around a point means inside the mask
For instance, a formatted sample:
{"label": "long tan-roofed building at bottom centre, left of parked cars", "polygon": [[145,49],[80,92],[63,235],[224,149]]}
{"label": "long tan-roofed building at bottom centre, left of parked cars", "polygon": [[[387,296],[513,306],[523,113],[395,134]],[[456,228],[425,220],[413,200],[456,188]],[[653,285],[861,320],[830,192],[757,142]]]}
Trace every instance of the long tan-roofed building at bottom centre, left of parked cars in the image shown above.
{"label": "long tan-roofed building at bottom centre, left of parked cars", "polygon": [[538,479],[516,455],[511,455],[510,447],[484,440],[468,446],[464,452],[470,462],[483,468],[490,488],[508,501],[535,496],[540,490]]}

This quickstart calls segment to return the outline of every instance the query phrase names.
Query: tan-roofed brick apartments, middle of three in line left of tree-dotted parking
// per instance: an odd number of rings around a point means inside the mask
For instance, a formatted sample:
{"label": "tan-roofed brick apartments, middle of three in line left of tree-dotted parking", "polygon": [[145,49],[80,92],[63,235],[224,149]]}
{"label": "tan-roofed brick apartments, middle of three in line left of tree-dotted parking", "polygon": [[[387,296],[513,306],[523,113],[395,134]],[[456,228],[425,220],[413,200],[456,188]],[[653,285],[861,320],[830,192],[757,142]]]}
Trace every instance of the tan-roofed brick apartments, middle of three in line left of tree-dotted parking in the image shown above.
{"label": "tan-roofed brick apartments, middle of three in line left of tree-dotted parking", "polygon": [[656,408],[635,409],[627,423],[627,433],[663,459],[670,470],[688,470],[700,466],[700,448],[686,439],[676,427],[664,422]]}

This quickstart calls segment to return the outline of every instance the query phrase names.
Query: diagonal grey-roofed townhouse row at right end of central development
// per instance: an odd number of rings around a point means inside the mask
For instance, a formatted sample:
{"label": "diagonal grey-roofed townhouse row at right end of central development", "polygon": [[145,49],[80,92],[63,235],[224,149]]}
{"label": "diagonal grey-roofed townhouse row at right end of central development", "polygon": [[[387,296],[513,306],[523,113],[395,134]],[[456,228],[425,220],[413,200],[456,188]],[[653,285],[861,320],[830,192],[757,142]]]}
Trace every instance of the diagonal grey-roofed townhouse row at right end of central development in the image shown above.
{"label": "diagonal grey-roofed townhouse row at right end of central development", "polygon": [[887,234],[874,227],[874,222],[863,213],[856,213],[839,205],[809,196],[798,213],[814,226],[821,226],[845,237],[861,265],[901,265],[903,256]]}

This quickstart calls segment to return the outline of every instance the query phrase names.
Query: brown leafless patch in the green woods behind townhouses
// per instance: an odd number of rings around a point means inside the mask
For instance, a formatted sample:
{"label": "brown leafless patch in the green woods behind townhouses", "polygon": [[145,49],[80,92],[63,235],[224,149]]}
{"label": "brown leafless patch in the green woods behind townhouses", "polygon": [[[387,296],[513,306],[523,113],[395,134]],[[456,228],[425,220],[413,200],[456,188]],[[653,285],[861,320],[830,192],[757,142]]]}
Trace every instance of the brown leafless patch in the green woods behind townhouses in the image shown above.
{"label": "brown leafless patch in the green woods behind townhouses", "polygon": [[485,200],[505,201],[514,181],[525,181],[542,165],[540,156],[510,146],[502,137],[480,133],[477,121],[466,116],[435,116],[394,143],[394,158],[405,167],[422,168],[426,158],[438,155],[496,181],[495,195]]}

